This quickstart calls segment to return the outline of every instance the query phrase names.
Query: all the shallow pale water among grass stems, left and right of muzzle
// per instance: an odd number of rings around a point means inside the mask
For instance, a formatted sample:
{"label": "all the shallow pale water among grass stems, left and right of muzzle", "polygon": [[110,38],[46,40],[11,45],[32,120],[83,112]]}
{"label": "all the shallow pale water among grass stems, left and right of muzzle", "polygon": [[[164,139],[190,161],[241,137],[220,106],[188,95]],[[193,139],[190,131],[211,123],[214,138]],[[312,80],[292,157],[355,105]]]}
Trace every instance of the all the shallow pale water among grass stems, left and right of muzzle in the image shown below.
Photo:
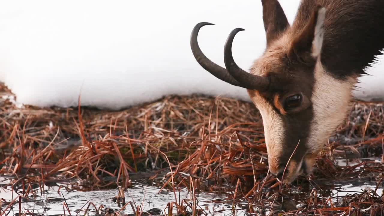
{"label": "all the shallow pale water among grass stems, left and right of muzzle", "polygon": [[[0,179],[0,184],[3,184],[2,179]],[[349,181],[349,182],[334,182],[330,181],[329,184],[332,184],[331,189],[331,199],[333,202],[338,202],[348,194],[360,194],[364,190],[369,189],[375,191],[376,182],[362,182],[362,181]],[[60,184],[59,184],[60,185]],[[382,196],[384,188],[380,186],[377,188],[376,193],[379,196]],[[84,210],[88,207],[89,202],[92,202],[96,208],[99,208],[101,205],[104,207],[104,212],[101,212],[101,215],[105,215],[105,208],[113,209],[115,212],[119,211],[123,204],[116,203],[113,201],[113,198],[118,194],[118,189],[109,189],[103,191],[66,191],[66,189],[61,188],[60,194],[57,192],[58,186],[48,188],[45,186],[45,193],[40,196],[40,190],[38,193],[35,193],[33,198],[30,195],[31,200],[26,202],[22,201],[21,213],[34,213],[35,216],[53,216],[53,215],[64,215],[63,203],[68,204],[68,208],[71,211],[71,215],[84,215]],[[169,208],[167,204],[171,201],[175,201],[175,194],[173,191],[162,190],[159,192],[159,188],[149,185],[136,184],[134,188],[128,188],[124,194],[126,202],[134,201],[134,205],[140,206],[143,202],[143,211],[149,211],[154,209],[158,211],[159,215],[167,215]],[[304,196],[306,196],[305,191],[301,191]],[[307,191],[309,192],[309,191]],[[62,194],[61,194],[62,193]],[[18,194],[15,191],[10,191],[8,189],[0,188],[0,198],[5,199],[5,201],[10,202],[12,199],[16,198]],[[63,199],[63,196],[65,200]],[[318,196],[320,196],[318,194]],[[177,202],[180,203],[183,199],[186,199],[187,203],[192,203],[190,197],[191,194],[187,189],[181,189],[180,192],[176,191]],[[232,212],[232,199],[228,198],[228,194],[225,193],[196,193],[197,199],[197,209],[204,210],[204,213],[207,215],[220,215],[220,216],[229,216],[234,215]],[[301,199],[301,198],[300,198]],[[18,199],[17,199],[18,201]],[[236,200],[236,216],[245,216],[249,214],[248,203],[244,200]],[[297,204],[300,201],[297,200]],[[300,205],[300,204],[299,204]],[[2,204],[2,210],[7,207],[7,203]],[[99,210],[96,210],[92,205],[89,207],[88,215],[94,216],[100,213]],[[19,213],[19,204],[15,203],[13,209],[8,209],[5,214],[8,216],[17,216]],[[79,211],[82,209],[82,211]],[[158,210],[159,209],[159,210]],[[254,206],[254,209],[257,208]],[[103,210],[103,209],[102,209]],[[277,210],[277,209],[275,209]],[[192,211],[191,208],[187,208],[187,211]],[[173,207],[174,214],[177,213],[175,206]],[[37,214],[36,214],[37,213]],[[120,214],[132,214],[134,211],[131,208],[130,204],[126,205],[126,208],[119,212]],[[68,211],[65,210],[65,214],[69,215]],[[156,215],[153,213],[153,215]],[[269,212],[265,212],[265,215],[268,215]],[[143,214],[146,215],[146,214]]]}

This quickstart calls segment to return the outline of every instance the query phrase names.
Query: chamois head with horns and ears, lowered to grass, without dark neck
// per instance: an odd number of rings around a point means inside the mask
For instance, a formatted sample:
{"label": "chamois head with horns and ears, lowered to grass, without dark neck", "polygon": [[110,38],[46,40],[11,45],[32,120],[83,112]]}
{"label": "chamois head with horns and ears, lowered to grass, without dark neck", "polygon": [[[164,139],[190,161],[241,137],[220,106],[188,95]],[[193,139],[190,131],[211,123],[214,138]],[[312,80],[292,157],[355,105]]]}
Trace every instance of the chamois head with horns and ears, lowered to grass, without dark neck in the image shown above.
{"label": "chamois head with horns and ears, lowered to grass, without dark neck", "polygon": [[356,79],[338,80],[321,63],[326,8],[310,8],[308,16],[301,16],[306,20],[296,18],[297,25],[290,26],[277,0],[262,0],[262,5],[267,46],[250,73],[232,57],[233,38],[241,28],[225,43],[226,68],[210,61],[197,43],[200,28],[212,23],[198,23],[190,45],[205,70],[247,89],[263,119],[270,172],[290,183],[312,171],[317,154],[345,118]]}

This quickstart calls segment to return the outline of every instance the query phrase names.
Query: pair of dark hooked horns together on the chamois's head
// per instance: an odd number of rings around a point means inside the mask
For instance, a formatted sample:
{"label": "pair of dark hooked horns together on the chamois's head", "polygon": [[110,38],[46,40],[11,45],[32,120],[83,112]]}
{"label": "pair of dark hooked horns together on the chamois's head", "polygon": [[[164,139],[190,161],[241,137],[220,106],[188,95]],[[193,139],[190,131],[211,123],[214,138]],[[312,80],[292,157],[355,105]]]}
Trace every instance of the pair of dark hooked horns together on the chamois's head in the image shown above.
{"label": "pair of dark hooked horns together on the chamois's head", "polygon": [[230,83],[231,85],[239,86],[247,89],[260,90],[260,91],[267,90],[270,83],[270,80],[268,77],[257,76],[257,75],[248,73],[247,71],[244,71],[241,68],[239,68],[236,65],[235,61],[233,60],[233,57],[232,57],[233,38],[235,37],[236,33],[242,29],[237,28],[233,30],[227,38],[227,42],[225,43],[225,48],[224,48],[224,61],[225,61],[225,66],[227,68],[225,69],[215,64],[211,60],[209,60],[209,58],[207,58],[207,56],[204,55],[204,53],[201,51],[199,47],[199,43],[197,42],[197,35],[199,34],[200,28],[205,25],[214,25],[214,24],[208,23],[208,22],[197,23],[193,28],[190,36],[190,46],[192,49],[192,53],[195,56],[196,61],[200,64],[200,66],[202,66],[202,68],[207,70],[209,73],[211,73],[215,77],[227,83]]}

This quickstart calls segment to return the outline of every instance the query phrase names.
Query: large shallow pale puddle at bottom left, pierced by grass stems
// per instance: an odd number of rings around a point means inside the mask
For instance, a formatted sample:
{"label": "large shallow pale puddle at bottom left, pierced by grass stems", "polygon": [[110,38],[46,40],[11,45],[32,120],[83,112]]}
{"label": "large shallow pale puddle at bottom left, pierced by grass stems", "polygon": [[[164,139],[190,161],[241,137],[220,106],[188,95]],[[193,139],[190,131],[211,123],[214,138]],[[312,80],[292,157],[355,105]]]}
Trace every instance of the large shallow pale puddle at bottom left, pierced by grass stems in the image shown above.
{"label": "large shallow pale puddle at bottom left, pierced by grass stems", "polygon": [[[45,191],[45,195],[36,197],[35,200],[30,202],[22,201],[22,212],[26,212],[26,209],[31,213],[43,213],[42,215],[57,215],[63,214],[63,196],[57,193],[58,187],[51,187],[50,190]],[[113,201],[113,197],[118,194],[118,189],[111,189],[105,191],[72,191],[66,192],[64,189],[61,191],[66,199],[66,203],[71,211],[72,215],[76,215],[77,212],[79,215],[84,215],[84,211],[78,211],[79,209],[86,209],[88,207],[87,203],[92,202],[96,208],[99,208],[100,205],[103,205],[105,208],[111,208],[114,211],[119,211],[123,206],[121,203],[116,203]],[[148,211],[149,209],[158,208],[162,211],[159,212],[160,215],[167,215],[168,208],[166,208],[167,203],[175,201],[175,195],[173,191],[164,190],[158,194],[159,188],[152,186],[139,186],[136,188],[128,188],[125,191],[126,202],[132,201],[132,198],[136,206],[141,205],[142,198],[144,197],[143,210]],[[39,194],[40,195],[40,194]],[[12,198],[18,196],[17,193],[2,189],[0,196],[6,201],[11,201]],[[13,197],[12,197],[13,196]],[[131,198],[132,196],[132,198]],[[188,203],[190,200],[190,193],[187,189],[182,189],[180,192],[176,192],[177,201],[182,201],[182,199],[187,199]],[[214,194],[214,193],[198,193],[196,194],[196,199],[198,201],[197,208],[203,209],[209,215],[233,215],[232,213],[232,200],[226,201],[227,196],[225,194]],[[49,200],[48,202],[46,200]],[[238,203],[238,202],[237,202]],[[84,206],[85,205],[85,206]],[[84,207],[83,207],[84,206]],[[243,216],[246,215],[246,210],[235,206],[237,209],[236,215]],[[166,208],[166,209],[164,209]],[[3,209],[5,206],[3,204]],[[96,215],[96,210],[93,206],[89,208],[88,215]],[[9,209],[8,209],[9,210]],[[191,209],[189,208],[188,211]],[[173,207],[173,212],[177,213],[175,207]],[[124,210],[120,212],[121,214],[131,214],[133,210],[128,204]],[[66,212],[66,215],[69,213]],[[18,215],[18,203],[14,205],[14,209],[10,211],[8,216]],[[40,214],[39,214],[40,215]],[[104,214],[103,214],[104,215]],[[144,214],[143,214],[144,215]]]}

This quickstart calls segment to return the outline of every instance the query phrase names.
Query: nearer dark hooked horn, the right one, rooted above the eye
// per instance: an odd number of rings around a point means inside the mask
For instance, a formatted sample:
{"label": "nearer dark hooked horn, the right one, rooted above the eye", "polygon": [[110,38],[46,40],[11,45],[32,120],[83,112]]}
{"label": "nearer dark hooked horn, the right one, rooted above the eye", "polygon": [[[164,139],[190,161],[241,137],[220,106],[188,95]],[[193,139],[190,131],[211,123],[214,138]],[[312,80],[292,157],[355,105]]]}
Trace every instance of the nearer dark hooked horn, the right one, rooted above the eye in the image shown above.
{"label": "nearer dark hooked horn, the right one, rooted above the eye", "polygon": [[257,76],[257,75],[248,73],[247,71],[244,71],[239,66],[237,66],[237,64],[235,63],[235,60],[233,60],[233,56],[232,56],[233,38],[235,38],[235,35],[240,31],[244,31],[244,29],[235,28],[234,30],[232,30],[232,32],[229,34],[227,38],[227,41],[225,42],[225,46],[224,46],[225,67],[227,68],[227,71],[230,73],[230,75],[232,75],[233,78],[235,78],[239,83],[241,83],[242,86],[245,86],[244,88],[266,91],[268,90],[270,85],[270,79],[268,77]]}

